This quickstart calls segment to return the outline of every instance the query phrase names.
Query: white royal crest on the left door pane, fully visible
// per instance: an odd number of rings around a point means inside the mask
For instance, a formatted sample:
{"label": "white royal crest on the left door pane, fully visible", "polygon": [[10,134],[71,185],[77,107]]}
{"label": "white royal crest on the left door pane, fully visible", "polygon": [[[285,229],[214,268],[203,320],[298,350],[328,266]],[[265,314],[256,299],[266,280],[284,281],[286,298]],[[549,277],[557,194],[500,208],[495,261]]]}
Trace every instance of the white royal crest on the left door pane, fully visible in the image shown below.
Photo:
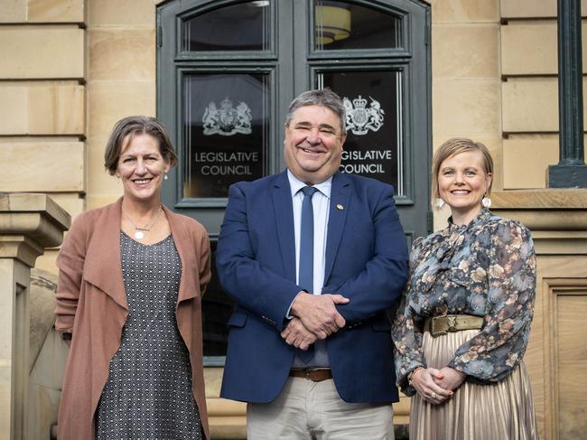
{"label": "white royal crest on the left door pane, fully visible", "polygon": [[232,136],[237,133],[250,135],[252,119],[251,109],[244,102],[234,108],[232,101],[224,98],[220,108],[217,108],[216,103],[212,101],[204,110],[202,118],[204,135]]}

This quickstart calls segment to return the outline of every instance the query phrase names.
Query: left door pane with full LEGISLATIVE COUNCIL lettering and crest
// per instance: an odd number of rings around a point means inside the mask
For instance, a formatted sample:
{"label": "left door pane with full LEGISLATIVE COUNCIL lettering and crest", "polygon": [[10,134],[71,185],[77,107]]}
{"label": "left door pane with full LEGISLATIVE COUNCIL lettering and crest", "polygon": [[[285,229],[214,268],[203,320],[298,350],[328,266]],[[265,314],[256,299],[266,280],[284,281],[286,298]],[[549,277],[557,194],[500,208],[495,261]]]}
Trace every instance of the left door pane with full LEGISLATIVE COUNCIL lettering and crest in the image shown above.
{"label": "left door pane with full LEGISLATIVE COUNCIL lettering and crest", "polygon": [[183,198],[228,197],[228,187],[266,175],[266,73],[183,77]]}

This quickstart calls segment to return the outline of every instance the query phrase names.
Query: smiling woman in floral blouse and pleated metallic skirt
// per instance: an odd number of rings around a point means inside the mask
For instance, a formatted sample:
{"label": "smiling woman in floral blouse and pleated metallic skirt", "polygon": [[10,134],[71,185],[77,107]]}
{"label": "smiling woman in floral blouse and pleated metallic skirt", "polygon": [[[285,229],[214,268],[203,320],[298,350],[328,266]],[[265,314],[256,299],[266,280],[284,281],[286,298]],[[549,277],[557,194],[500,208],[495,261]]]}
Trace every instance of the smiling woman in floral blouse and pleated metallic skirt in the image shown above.
{"label": "smiling woman in floral blouse and pleated metallic skirt", "polygon": [[434,204],[452,216],[415,240],[393,327],[412,440],[537,438],[522,362],[536,257],[528,229],[489,212],[492,174],[487,147],[470,139],[434,154]]}

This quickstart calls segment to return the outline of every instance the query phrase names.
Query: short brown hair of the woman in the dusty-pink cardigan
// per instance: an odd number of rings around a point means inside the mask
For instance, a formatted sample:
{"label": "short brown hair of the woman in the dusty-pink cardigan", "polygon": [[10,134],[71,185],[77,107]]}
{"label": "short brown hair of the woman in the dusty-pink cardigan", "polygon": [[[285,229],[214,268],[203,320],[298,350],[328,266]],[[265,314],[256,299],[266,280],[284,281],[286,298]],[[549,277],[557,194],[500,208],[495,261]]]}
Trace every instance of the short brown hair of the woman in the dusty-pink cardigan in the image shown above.
{"label": "short brown hair of the woman in the dusty-pink cardigan", "polygon": [[137,135],[153,136],[159,144],[159,152],[163,158],[168,160],[171,166],[177,164],[177,154],[175,154],[169,133],[156,117],[124,117],[116,122],[106,144],[104,167],[110,175],[116,173],[124,144]]}

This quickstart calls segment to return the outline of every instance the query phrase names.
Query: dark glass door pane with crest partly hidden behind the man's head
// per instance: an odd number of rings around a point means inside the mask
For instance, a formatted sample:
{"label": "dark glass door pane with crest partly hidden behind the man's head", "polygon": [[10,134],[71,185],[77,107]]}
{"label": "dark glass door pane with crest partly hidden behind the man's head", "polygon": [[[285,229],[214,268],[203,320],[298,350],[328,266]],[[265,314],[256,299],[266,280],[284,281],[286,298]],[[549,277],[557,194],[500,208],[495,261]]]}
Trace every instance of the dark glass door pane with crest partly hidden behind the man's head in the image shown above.
{"label": "dark glass door pane with crest partly hidden behind the man's head", "polygon": [[347,110],[343,173],[390,183],[404,195],[402,73],[399,70],[337,71],[317,74],[317,87],[329,87]]}

